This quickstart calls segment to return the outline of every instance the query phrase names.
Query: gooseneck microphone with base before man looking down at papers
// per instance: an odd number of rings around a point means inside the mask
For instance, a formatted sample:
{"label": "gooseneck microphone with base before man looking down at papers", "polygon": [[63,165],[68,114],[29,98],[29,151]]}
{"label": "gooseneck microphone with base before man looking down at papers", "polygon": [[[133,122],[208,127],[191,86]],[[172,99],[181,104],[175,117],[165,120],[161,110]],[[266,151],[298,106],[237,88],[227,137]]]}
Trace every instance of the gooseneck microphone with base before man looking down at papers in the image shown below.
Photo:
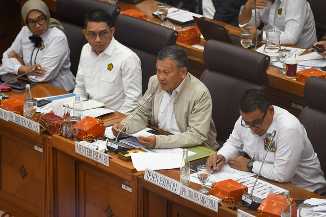
{"label": "gooseneck microphone with base before man looking down at papers", "polygon": [[259,205],[263,202],[262,199],[253,196],[253,192],[254,192],[255,185],[256,185],[256,183],[257,183],[257,180],[258,180],[258,177],[259,177],[259,174],[260,174],[261,168],[262,168],[263,165],[264,165],[264,162],[265,162],[265,159],[266,159],[266,156],[267,156],[267,153],[268,153],[268,150],[269,150],[269,147],[270,147],[271,141],[273,141],[273,139],[274,139],[274,137],[275,137],[275,134],[276,134],[276,130],[274,130],[273,133],[271,133],[271,139],[270,139],[270,141],[269,141],[269,144],[268,144],[268,147],[267,147],[267,151],[266,151],[266,153],[265,153],[264,160],[263,160],[263,162],[262,162],[262,164],[261,164],[261,166],[260,166],[259,172],[258,172],[258,174],[257,174],[257,178],[256,178],[256,180],[255,180],[255,183],[254,183],[254,185],[253,185],[253,189],[252,189],[250,195],[249,195],[249,194],[243,194],[243,195],[242,195],[242,198],[241,198],[241,199],[242,199],[242,203],[243,203],[243,204],[247,204],[251,210],[257,210],[257,208],[259,207]]}

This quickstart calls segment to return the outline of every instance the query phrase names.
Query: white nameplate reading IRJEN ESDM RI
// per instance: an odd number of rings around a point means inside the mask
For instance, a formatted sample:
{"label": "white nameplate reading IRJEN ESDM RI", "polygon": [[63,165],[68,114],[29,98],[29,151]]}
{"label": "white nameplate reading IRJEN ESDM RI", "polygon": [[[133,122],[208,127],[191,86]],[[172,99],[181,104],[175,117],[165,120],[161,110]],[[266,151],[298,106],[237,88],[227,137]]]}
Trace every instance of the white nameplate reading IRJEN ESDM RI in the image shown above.
{"label": "white nameplate reading IRJEN ESDM RI", "polygon": [[161,188],[164,188],[174,194],[180,195],[181,183],[168,176],[162,175],[151,169],[145,169],[144,179],[146,181],[152,182]]}

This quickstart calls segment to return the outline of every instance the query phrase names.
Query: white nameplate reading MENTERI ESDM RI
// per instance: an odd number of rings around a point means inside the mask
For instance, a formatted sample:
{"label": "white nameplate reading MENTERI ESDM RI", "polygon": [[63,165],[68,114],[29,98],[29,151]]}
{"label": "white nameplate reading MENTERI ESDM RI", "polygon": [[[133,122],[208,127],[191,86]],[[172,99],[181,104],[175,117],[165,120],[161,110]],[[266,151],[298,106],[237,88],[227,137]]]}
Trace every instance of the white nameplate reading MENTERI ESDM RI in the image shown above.
{"label": "white nameplate reading MENTERI ESDM RI", "polygon": [[87,145],[76,142],[76,153],[82,154],[86,158],[92,159],[108,167],[108,155]]}

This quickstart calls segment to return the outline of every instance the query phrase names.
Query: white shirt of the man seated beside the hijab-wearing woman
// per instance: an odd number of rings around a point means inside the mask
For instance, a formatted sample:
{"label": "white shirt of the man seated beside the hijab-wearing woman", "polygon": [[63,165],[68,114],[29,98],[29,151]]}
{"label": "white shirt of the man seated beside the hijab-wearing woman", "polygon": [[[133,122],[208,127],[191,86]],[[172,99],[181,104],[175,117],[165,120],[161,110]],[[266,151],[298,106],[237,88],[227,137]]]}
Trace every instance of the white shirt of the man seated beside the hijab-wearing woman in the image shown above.
{"label": "white shirt of the man seated beside the hijab-wearing woman", "polygon": [[142,98],[141,60],[114,38],[99,55],[89,44],[80,55],[74,94],[129,114]]}

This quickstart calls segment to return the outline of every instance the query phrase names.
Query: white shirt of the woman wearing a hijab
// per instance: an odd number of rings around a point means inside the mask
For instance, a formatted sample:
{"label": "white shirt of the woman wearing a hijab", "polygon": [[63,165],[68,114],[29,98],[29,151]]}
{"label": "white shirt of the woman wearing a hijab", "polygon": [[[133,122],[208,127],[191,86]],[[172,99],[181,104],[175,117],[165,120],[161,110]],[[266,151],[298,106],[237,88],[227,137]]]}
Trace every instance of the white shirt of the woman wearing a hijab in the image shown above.
{"label": "white shirt of the woman wearing a hijab", "polygon": [[23,57],[25,66],[40,64],[47,70],[43,76],[27,75],[31,81],[47,82],[67,91],[74,88],[75,77],[70,72],[70,50],[66,35],[57,27],[49,28],[41,35],[44,48],[41,47],[39,50],[34,49],[34,43],[29,39],[32,35],[27,26],[22,27],[11,47],[3,54],[3,68],[9,73],[18,75],[18,69],[22,65],[16,58],[8,58],[8,51],[14,50]]}

